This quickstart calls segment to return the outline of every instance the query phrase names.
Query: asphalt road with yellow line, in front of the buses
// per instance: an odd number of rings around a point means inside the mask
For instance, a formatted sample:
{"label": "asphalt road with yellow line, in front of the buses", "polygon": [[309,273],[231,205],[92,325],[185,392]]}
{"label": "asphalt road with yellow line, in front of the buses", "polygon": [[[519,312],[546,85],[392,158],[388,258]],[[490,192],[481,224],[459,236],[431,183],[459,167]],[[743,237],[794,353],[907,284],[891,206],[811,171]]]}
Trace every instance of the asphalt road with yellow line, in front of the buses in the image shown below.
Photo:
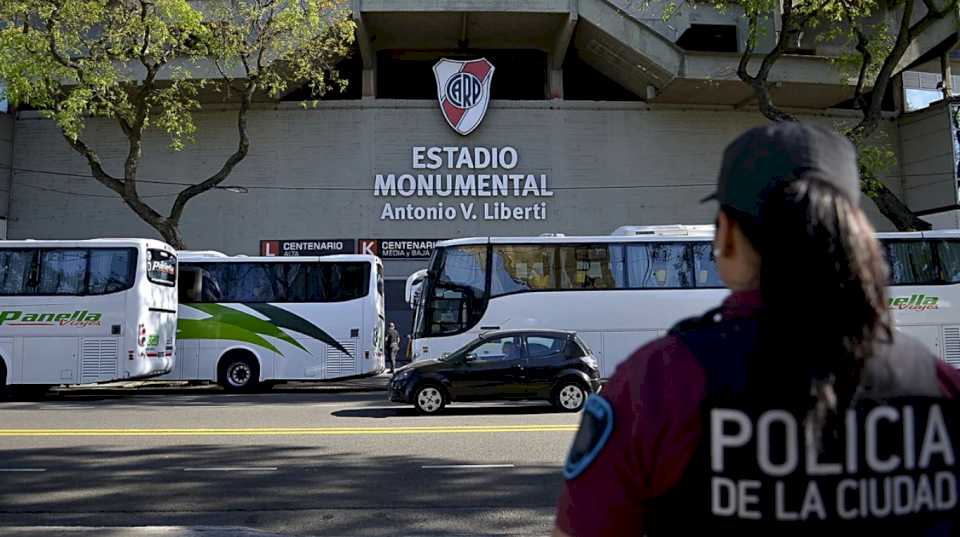
{"label": "asphalt road with yellow line, in front of the buses", "polygon": [[578,419],[535,403],[424,417],[323,389],[4,401],[0,526],[545,535]]}

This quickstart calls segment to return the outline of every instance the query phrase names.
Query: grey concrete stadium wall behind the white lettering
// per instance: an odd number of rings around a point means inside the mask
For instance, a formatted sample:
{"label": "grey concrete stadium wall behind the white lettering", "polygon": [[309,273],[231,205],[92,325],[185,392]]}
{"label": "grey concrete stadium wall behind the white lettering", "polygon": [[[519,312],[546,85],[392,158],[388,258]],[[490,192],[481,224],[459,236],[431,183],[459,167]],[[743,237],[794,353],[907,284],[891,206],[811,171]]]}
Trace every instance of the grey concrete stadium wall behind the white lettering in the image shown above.
{"label": "grey concrete stadium wall behind the white lettering", "polygon": [[[197,116],[197,143],[181,153],[159,134],[147,140],[141,179],[197,181],[213,173],[235,147],[235,116]],[[819,118],[835,122],[837,118]],[[256,254],[261,239],[450,238],[544,232],[609,234],[625,224],[709,223],[715,207],[698,201],[713,187],[724,146],[765,120],[755,113],[648,110],[642,103],[497,102],[471,135],[444,122],[435,101],[322,103],[251,113],[250,155],[227,184],[248,194],[212,191],[187,207],[183,233],[194,249]],[[87,139],[106,169],[118,173],[126,144],[117,127],[91,122]],[[511,173],[547,174],[552,197],[383,198],[378,173],[414,170],[413,146],[512,146]],[[84,161],[50,121],[17,122],[16,163],[43,172],[87,174]],[[442,171],[442,170],[438,170]],[[469,173],[466,170],[454,173]],[[490,173],[475,172],[475,173]],[[497,173],[496,171],[494,173]],[[899,192],[899,182],[894,182]],[[255,189],[253,187],[260,187]],[[167,211],[176,186],[143,184],[141,191]],[[545,202],[546,220],[384,221],[387,202],[432,206]],[[889,229],[869,206],[875,222]],[[12,238],[155,236],[112,192],[91,178],[18,171],[13,187]],[[405,276],[418,263],[391,263]]]}

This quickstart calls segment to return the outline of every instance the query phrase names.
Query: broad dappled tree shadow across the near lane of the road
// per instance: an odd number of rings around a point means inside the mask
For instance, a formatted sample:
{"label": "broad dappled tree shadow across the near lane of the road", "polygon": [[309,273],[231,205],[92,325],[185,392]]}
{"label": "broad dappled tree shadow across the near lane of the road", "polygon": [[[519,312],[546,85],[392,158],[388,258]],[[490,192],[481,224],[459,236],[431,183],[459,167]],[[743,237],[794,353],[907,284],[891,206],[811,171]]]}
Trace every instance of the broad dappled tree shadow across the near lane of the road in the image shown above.
{"label": "broad dappled tree shadow across the near lane of the road", "polygon": [[[46,469],[4,475],[0,525],[242,525],[334,536],[543,534],[561,485],[559,466],[429,469],[471,461],[338,452],[322,443],[0,449],[0,467]],[[264,470],[185,470],[223,466]]]}

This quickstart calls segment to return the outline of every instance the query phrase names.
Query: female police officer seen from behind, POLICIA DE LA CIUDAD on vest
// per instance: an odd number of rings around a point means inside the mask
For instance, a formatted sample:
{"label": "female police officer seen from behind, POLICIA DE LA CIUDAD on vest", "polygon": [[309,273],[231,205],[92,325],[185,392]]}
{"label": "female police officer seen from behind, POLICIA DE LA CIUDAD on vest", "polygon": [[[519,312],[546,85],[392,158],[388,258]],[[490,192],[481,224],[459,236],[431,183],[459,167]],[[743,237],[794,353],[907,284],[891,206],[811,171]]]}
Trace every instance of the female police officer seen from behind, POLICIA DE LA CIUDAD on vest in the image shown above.
{"label": "female police officer seen from behind, POLICIA DE LA CIUDAD on vest", "polygon": [[732,293],[590,398],[555,536],[960,535],[960,374],[893,330],[859,196],[831,130],[727,147],[708,199]]}

